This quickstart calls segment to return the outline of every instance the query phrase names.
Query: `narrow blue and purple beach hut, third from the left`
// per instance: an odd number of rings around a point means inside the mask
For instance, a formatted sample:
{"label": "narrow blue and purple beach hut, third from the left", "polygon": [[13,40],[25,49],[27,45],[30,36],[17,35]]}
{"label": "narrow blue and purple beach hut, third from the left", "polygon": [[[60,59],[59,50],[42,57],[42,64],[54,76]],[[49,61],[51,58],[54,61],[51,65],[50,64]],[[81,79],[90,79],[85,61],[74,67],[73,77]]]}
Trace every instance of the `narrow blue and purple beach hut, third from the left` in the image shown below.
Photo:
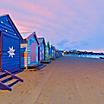
{"label": "narrow blue and purple beach hut, third from the left", "polygon": [[45,39],[44,38],[38,38],[39,42],[39,58],[40,62],[43,62],[45,60]]}

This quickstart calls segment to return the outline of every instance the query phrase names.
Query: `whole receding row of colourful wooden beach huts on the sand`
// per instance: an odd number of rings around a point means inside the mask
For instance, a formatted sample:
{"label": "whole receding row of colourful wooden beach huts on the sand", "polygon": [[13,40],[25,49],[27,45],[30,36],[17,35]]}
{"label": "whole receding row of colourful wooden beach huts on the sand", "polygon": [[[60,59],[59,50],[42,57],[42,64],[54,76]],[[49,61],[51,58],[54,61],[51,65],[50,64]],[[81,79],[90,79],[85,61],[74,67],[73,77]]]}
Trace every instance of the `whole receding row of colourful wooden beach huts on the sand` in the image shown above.
{"label": "whole receding row of colourful wooden beach huts on the sand", "polygon": [[[7,79],[23,81],[15,72],[37,68],[61,56],[62,51],[43,37],[35,32],[20,34],[9,15],[0,16],[0,89],[11,90],[13,84],[5,85]],[[8,75],[11,77],[4,79]]]}

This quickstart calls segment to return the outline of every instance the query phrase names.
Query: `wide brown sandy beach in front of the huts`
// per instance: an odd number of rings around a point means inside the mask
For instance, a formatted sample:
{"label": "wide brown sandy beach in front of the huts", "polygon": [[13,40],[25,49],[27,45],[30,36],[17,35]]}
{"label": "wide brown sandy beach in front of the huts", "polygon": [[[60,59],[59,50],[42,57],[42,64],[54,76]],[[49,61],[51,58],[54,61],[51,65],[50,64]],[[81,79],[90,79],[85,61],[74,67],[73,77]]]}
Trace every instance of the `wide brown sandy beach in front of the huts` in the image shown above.
{"label": "wide brown sandy beach in front of the huts", "polygon": [[0,104],[104,104],[104,60],[65,56],[0,91]]}

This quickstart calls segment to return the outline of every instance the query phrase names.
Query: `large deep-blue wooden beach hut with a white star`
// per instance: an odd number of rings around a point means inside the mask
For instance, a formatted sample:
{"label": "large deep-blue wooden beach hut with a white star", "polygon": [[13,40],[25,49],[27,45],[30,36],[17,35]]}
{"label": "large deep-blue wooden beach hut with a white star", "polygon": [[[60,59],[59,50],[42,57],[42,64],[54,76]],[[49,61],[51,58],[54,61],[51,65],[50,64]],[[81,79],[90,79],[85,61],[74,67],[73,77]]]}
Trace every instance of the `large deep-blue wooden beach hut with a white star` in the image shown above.
{"label": "large deep-blue wooden beach hut with a white star", "polygon": [[0,16],[0,71],[20,71],[22,37],[9,15]]}

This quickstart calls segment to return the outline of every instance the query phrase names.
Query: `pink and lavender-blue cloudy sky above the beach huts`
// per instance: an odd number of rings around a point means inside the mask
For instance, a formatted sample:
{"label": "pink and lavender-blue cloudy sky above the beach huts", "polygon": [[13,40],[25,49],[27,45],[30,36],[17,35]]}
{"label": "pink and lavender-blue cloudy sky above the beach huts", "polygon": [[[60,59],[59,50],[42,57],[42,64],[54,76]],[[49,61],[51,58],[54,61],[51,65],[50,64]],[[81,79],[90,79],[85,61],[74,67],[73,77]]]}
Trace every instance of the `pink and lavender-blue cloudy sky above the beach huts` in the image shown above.
{"label": "pink and lavender-blue cloudy sky above the beach huts", "polygon": [[104,0],[0,0],[21,34],[63,50],[104,50]]}

